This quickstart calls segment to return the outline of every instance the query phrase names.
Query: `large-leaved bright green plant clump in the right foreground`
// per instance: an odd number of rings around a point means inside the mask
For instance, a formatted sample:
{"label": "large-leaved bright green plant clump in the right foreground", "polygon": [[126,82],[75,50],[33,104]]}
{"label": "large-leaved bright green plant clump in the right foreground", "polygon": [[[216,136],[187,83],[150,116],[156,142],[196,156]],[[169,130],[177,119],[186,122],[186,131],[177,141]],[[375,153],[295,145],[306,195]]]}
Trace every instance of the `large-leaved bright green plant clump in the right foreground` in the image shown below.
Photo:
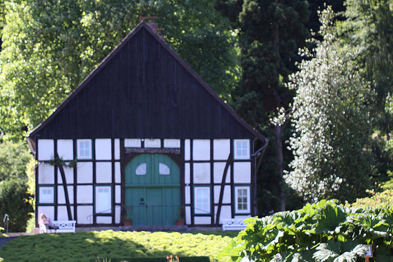
{"label": "large-leaved bright green plant clump in the right foreground", "polygon": [[[393,255],[393,208],[345,208],[322,200],[301,210],[249,218],[245,231],[223,250],[231,261],[356,262],[371,244],[374,261]],[[243,260],[242,260],[243,261]]]}

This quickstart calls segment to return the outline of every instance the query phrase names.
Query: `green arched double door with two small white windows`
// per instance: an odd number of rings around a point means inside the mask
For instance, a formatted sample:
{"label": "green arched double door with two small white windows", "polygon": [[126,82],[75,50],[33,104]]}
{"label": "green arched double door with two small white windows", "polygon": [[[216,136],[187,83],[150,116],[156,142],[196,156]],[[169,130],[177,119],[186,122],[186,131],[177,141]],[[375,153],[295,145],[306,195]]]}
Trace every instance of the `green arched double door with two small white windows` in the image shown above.
{"label": "green arched double door with two small white windows", "polygon": [[133,158],[125,168],[125,204],[133,225],[174,225],[181,205],[178,165],[161,154]]}

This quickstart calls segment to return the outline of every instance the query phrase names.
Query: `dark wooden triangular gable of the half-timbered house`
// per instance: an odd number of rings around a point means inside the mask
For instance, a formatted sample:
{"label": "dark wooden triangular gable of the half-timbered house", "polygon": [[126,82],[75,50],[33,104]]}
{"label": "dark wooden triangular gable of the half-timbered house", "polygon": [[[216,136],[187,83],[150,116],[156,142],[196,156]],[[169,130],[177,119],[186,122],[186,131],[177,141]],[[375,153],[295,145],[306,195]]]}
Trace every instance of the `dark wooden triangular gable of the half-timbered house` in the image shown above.
{"label": "dark wooden triangular gable of the half-timbered house", "polygon": [[141,22],[29,139],[248,138],[254,131]]}

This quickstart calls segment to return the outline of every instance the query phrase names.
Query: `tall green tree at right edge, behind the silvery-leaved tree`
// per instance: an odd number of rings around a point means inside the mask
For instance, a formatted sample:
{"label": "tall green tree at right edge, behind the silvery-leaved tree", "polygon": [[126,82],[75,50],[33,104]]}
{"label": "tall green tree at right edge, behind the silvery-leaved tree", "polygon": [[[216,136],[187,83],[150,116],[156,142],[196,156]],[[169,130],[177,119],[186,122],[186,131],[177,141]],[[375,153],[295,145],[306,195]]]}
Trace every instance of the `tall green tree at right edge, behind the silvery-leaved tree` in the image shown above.
{"label": "tall green tree at right edge, behind the silvery-leaved tree", "polygon": [[342,46],[356,50],[362,77],[375,92],[370,104],[376,119],[371,147],[378,160],[378,183],[392,179],[393,171],[393,7],[391,0],[347,0],[346,19],[337,23]]}

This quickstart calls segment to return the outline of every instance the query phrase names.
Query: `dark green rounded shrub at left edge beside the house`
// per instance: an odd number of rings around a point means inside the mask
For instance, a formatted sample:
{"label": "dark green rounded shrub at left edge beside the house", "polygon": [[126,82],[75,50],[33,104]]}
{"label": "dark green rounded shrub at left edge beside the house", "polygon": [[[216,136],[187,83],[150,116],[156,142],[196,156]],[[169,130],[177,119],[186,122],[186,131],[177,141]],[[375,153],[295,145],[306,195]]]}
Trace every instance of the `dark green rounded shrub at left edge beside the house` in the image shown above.
{"label": "dark green rounded shrub at left edge beside the house", "polygon": [[33,211],[27,185],[19,179],[0,182],[0,216],[9,215],[8,232],[25,232],[26,222]]}

